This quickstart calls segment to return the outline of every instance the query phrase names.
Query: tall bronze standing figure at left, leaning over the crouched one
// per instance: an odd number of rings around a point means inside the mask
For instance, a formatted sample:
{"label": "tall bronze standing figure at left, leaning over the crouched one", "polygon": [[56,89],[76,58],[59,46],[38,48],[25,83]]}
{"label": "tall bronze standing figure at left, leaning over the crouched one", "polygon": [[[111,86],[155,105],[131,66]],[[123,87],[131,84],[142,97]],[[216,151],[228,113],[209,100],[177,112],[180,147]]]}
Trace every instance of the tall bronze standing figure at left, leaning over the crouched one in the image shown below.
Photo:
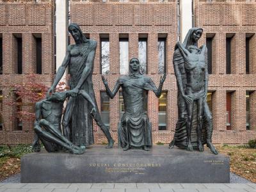
{"label": "tall bronze standing figure at left, leaning over the crouched one", "polygon": [[107,148],[111,148],[113,147],[114,140],[109,133],[109,129],[103,124],[100,118],[92,83],[93,61],[97,42],[87,39],[76,23],[71,23],[68,26],[68,31],[74,38],[76,44],[68,45],[66,56],[61,67],[58,68],[56,78],[48,91],[48,95],[56,88],[65,69],[68,67],[70,72],[70,95],[72,97],[70,97],[67,102],[63,116],[62,124],[65,136],[70,139],[74,145],[82,148],[94,143],[92,116],[90,115],[92,105],[81,95],[78,95],[79,90],[84,90],[92,97],[95,103],[96,113],[93,118],[108,138]]}

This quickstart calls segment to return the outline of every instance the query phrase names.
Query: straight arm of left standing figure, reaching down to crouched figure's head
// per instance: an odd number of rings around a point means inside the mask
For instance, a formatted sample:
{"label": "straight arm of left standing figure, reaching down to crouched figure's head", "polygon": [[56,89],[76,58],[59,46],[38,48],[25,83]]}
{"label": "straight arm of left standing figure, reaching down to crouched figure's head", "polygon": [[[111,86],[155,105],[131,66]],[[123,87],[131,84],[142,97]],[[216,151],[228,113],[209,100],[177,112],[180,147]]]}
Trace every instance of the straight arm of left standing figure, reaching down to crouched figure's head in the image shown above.
{"label": "straight arm of left standing figure, reaching down to crouched figure's head", "polygon": [[58,68],[58,71],[56,73],[56,77],[52,83],[51,88],[48,90],[47,92],[47,97],[49,96],[49,93],[52,93],[53,90],[56,88],[57,84],[59,83],[61,77],[63,76],[63,74],[65,73],[65,70],[68,66],[68,63],[70,61],[70,46],[68,46],[67,48],[67,52],[66,52],[66,56],[61,64],[61,67]]}

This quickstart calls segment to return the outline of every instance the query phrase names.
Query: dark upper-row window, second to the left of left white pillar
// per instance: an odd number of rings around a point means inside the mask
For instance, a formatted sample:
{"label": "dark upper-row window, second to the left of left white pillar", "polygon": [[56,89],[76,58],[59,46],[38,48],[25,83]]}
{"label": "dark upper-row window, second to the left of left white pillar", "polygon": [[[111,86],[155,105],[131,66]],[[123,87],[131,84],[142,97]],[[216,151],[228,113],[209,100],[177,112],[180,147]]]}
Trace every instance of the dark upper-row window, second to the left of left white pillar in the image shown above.
{"label": "dark upper-row window, second to the left of left white pillar", "polygon": [[14,38],[15,38],[14,58],[15,58],[15,64],[17,66],[16,73],[22,74],[22,35],[14,34]]}

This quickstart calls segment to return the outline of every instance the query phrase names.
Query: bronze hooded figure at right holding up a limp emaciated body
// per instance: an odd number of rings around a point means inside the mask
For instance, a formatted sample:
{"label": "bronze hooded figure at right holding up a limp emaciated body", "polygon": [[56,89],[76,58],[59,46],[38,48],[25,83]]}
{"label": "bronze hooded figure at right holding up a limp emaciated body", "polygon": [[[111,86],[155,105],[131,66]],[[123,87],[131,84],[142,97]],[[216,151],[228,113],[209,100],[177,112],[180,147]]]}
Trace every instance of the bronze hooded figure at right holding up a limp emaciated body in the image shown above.
{"label": "bronze hooded figure at right holding up a limp emaciated body", "polygon": [[206,102],[207,48],[197,46],[202,33],[202,28],[191,28],[183,44],[175,45],[173,67],[178,86],[179,119],[170,148],[176,145],[204,151],[206,143],[213,154],[218,154],[212,145],[212,116]]}

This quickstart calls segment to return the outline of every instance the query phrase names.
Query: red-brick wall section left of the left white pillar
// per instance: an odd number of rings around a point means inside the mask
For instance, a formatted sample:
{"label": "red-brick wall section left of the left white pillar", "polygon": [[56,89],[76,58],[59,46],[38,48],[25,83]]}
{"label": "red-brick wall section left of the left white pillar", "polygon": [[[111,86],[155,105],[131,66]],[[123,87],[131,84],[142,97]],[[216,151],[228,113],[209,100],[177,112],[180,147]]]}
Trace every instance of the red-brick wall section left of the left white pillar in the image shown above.
{"label": "red-brick wall section left of the left white pillar", "polygon": [[[53,2],[53,4],[52,4]],[[13,120],[14,107],[5,98],[10,94],[6,87],[10,82],[24,83],[28,74],[36,73],[35,38],[42,38],[42,74],[36,74],[38,82],[50,86],[53,80],[53,14],[54,1],[0,1],[0,34],[3,38],[3,74],[0,75],[0,90],[3,90],[3,115],[6,132],[0,131],[0,143],[31,143],[33,122],[22,122],[22,131],[17,130]],[[17,36],[22,38],[22,74],[17,74]],[[11,93],[12,94],[12,93]],[[24,110],[33,108],[22,107]],[[6,134],[5,134],[6,133]]]}

